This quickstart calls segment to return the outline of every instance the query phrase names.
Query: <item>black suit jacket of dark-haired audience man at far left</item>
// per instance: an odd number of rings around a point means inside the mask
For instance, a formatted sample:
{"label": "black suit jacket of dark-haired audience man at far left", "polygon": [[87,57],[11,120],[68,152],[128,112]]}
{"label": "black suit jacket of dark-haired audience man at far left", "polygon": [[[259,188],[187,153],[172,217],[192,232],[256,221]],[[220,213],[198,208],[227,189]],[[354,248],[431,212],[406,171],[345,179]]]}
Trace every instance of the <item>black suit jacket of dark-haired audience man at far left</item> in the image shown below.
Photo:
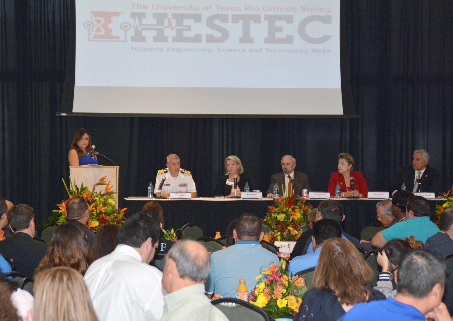
{"label": "black suit jacket of dark-haired audience man at far left", "polygon": [[33,240],[31,235],[22,232],[0,241],[0,253],[13,259],[16,271],[30,278],[33,278],[34,270],[43,259],[47,247],[47,243]]}

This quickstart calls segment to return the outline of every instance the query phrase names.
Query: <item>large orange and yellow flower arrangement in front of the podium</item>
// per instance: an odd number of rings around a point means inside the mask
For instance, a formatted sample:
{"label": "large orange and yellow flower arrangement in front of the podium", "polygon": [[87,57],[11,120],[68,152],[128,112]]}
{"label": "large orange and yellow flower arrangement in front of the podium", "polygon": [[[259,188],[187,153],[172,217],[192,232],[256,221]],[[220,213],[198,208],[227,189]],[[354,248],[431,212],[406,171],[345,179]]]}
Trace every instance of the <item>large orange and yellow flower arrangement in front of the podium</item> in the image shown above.
{"label": "large orange and yellow flower arrangement in front of the podium", "polygon": [[[96,182],[93,185],[92,190],[90,190],[87,186],[83,186],[83,183],[80,187],[78,187],[75,179],[74,183],[72,183],[71,177],[69,177],[69,182],[71,183],[70,189],[67,188],[66,182],[63,178],[62,181],[69,198],[66,201],[62,201],[60,204],[57,204],[58,210],[52,211],[52,215],[47,218],[43,224],[43,227],[53,223],[58,225],[66,223],[66,203],[70,199],[78,196],[83,197],[85,201],[87,201],[88,210],[90,211],[90,219],[87,222],[87,226],[91,230],[97,231],[99,227],[104,224],[121,225],[124,223],[124,213],[127,210],[127,207],[123,209],[116,208],[116,200],[113,194],[117,192],[113,192],[111,190],[113,186],[110,185],[110,181],[107,182],[106,176]],[[94,188],[98,185],[106,185],[103,192],[95,192]]]}

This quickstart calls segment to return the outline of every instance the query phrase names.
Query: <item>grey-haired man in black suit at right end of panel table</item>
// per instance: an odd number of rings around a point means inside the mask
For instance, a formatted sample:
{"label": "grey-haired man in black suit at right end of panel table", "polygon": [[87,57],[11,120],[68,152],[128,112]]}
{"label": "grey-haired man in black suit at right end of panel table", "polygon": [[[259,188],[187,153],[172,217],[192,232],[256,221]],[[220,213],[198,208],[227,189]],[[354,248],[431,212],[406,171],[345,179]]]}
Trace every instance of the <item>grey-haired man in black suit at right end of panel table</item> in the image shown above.
{"label": "grey-haired man in black suit at right end of panel table", "polygon": [[407,190],[417,192],[420,182],[420,190],[422,192],[439,193],[440,174],[439,171],[428,166],[429,153],[424,149],[414,150],[412,156],[412,166],[403,166],[393,179],[389,187],[390,195],[401,189],[403,182],[406,184]]}

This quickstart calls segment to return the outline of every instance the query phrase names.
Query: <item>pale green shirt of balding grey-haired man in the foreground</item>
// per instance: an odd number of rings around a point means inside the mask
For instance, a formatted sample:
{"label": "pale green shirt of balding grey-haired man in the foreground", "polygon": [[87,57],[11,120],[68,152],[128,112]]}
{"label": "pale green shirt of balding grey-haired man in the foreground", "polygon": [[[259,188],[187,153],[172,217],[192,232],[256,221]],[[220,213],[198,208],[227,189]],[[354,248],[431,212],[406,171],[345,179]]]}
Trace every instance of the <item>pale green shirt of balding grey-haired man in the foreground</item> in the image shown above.
{"label": "pale green shirt of balding grey-haired man in the foreground", "polygon": [[159,321],[228,321],[204,294],[202,283],[183,287],[164,297],[164,315]]}

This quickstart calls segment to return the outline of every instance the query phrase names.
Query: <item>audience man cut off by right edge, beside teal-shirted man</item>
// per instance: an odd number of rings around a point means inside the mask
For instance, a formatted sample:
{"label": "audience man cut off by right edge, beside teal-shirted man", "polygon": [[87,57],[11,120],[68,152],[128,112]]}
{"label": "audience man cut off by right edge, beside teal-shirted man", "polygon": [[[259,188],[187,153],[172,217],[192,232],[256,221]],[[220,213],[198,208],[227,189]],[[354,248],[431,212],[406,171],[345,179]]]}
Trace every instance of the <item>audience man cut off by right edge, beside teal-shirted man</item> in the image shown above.
{"label": "audience man cut off by right edge, beside teal-shirted man", "polygon": [[440,216],[440,232],[430,236],[425,249],[432,249],[447,257],[453,254],[453,208],[447,208]]}

